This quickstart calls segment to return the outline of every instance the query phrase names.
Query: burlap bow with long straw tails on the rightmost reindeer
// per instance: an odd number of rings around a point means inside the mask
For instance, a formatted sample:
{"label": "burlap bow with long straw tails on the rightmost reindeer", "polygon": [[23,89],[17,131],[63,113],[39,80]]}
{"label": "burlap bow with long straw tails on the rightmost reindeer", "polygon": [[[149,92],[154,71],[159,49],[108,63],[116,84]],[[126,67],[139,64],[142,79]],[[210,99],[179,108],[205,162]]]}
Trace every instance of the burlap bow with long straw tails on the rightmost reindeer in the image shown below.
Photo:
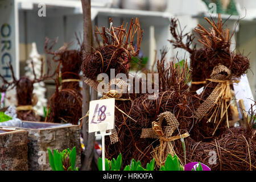
{"label": "burlap bow with long straw tails on the rightmost reindeer", "polygon": [[[209,110],[217,104],[216,109],[214,110],[213,114],[210,116],[207,122],[210,122],[211,120],[214,120],[214,122],[216,122],[219,114],[221,115],[221,119],[226,115],[226,122],[229,127],[228,107],[230,106],[230,104],[228,104],[228,102],[232,100],[230,84],[238,81],[232,80],[230,69],[225,67],[224,65],[217,65],[216,67],[214,67],[210,77],[210,79],[206,80],[211,82],[217,82],[218,84],[213,89],[212,93],[210,93],[210,95],[207,97],[207,99],[198,107],[195,117],[200,121],[209,112]],[[196,84],[196,82],[193,83]],[[218,122],[218,125],[219,124],[220,122]],[[214,135],[217,127],[212,135]]]}

